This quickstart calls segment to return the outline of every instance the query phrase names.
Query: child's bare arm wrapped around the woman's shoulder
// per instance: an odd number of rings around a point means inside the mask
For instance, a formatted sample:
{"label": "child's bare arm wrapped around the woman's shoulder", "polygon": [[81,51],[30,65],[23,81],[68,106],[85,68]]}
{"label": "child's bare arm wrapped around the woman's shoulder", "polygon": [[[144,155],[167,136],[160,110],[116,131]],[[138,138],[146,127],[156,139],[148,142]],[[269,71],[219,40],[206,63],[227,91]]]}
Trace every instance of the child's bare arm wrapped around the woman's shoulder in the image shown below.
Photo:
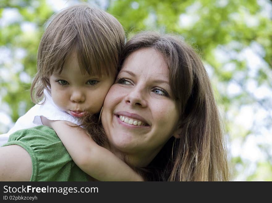
{"label": "child's bare arm wrapped around the woman's shoulder", "polygon": [[143,178],[112,152],[96,144],[84,129],[71,127],[67,121],[49,121],[74,162],[91,177],[100,181],[143,181]]}

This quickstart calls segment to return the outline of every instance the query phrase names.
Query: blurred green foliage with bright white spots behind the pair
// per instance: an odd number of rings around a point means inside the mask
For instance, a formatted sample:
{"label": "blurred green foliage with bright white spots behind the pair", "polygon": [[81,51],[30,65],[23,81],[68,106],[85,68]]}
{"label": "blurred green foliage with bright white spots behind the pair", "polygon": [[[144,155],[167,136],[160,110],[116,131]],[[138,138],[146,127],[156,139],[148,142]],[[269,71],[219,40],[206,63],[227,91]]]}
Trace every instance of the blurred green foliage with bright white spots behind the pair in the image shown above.
{"label": "blurred green foliage with bright white spots behind the pair", "polygon": [[[256,138],[267,131],[272,134],[272,96],[258,96],[248,87],[249,82],[256,82],[257,90],[265,87],[272,92],[271,1],[82,2],[103,6],[121,22],[128,38],[141,30],[174,32],[184,37],[201,55],[209,72],[228,137],[233,180],[272,180],[271,146],[257,146],[265,158],[254,160],[253,166],[244,156],[231,153],[232,143],[240,143],[242,148],[249,137]],[[17,18],[6,19],[7,11]],[[30,78],[36,73],[36,53],[46,20],[53,13],[52,6],[45,0],[0,1],[0,111],[13,122],[33,106]],[[249,59],[256,63],[252,64]],[[230,93],[231,84],[240,88],[235,94]],[[268,114],[245,127],[235,119],[247,105],[255,109],[253,115],[258,109]],[[9,127],[2,129],[7,131]],[[248,167],[253,169],[247,170]]]}

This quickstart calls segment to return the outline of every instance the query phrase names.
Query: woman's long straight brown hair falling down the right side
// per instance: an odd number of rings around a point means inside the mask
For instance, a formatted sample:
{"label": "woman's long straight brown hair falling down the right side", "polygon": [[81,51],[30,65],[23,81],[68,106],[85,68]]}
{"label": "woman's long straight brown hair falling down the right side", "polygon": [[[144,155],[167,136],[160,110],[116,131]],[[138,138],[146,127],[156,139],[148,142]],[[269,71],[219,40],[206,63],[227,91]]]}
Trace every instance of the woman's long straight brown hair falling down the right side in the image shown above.
{"label": "woman's long straight brown hair falling down the right side", "polygon": [[144,169],[146,180],[227,181],[227,150],[208,74],[198,54],[175,35],[142,32],[132,37],[120,57],[143,47],[161,52],[169,82],[180,103],[181,138],[170,138]]}

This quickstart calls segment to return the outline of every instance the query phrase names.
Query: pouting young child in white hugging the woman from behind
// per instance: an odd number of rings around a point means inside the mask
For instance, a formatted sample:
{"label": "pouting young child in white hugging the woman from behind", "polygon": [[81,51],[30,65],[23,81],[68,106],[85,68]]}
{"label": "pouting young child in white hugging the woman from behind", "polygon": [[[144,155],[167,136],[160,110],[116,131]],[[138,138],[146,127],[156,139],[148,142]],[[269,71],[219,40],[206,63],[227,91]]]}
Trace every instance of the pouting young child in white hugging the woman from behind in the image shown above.
{"label": "pouting young child in white hugging the woman from behind", "polygon": [[[100,112],[117,74],[124,38],[117,19],[96,8],[77,5],[53,15],[38,49],[37,74],[31,87],[36,105],[18,119],[8,134],[42,125],[41,116],[79,125],[79,117]],[[59,130],[71,139],[74,133],[86,135],[80,127],[65,125]],[[91,143],[90,162],[74,162],[91,177],[102,181],[142,180],[109,150],[89,137],[86,142]],[[72,150],[84,150],[76,145],[76,139],[74,143],[76,148]],[[70,153],[70,147],[67,150]]]}

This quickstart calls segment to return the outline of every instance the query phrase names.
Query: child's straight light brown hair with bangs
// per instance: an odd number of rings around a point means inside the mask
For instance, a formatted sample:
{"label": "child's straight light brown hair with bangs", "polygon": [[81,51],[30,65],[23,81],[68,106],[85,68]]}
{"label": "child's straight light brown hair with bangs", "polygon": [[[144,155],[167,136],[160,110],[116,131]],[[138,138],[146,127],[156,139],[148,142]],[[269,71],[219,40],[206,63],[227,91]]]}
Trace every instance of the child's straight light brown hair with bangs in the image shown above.
{"label": "child's straight light brown hair with bangs", "polygon": [[61,73],[66,57],[76,50],[79,66],[87,74],[117,74],[119,54],[124,46],[122,25],[112,15],[87,5],[70,6],[55,14],[38,49],[37,74],[31,99],[38,104],[50,92],[49,77]]}

